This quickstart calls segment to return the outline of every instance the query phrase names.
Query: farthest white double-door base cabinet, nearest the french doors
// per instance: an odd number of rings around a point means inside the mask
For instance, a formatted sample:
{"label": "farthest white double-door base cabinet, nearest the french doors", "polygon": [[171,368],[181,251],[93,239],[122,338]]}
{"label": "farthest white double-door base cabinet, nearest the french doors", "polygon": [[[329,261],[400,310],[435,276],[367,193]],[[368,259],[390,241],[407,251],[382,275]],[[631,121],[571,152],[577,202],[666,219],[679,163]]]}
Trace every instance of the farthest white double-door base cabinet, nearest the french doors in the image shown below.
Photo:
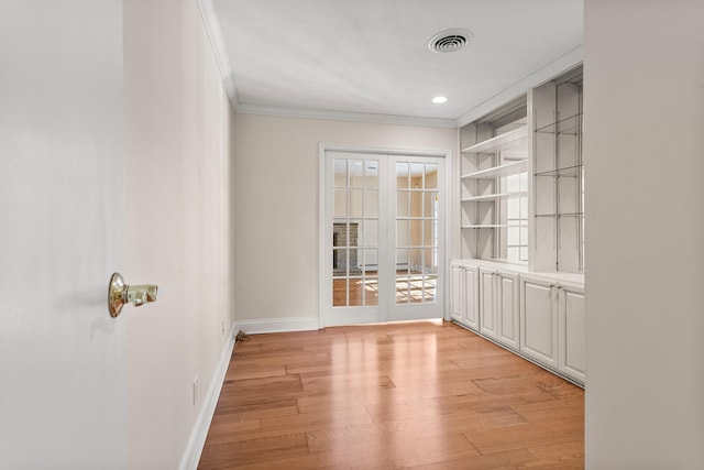
{"label": "farthest white double-door base cabinet, nearest the french doors", "polygon": [[479,269],[451,263],[450,315],[455,321],[479,331]]}

